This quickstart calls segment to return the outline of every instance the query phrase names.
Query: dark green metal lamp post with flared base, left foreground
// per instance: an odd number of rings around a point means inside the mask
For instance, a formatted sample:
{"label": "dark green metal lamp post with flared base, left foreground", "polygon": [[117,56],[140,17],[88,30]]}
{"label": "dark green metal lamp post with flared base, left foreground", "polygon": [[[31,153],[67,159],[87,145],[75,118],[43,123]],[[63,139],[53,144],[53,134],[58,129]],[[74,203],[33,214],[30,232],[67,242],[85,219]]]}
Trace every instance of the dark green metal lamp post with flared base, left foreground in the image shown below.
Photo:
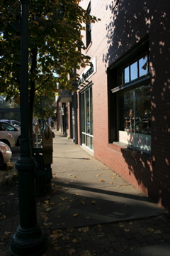
{"label": "dark green metal lamp post with flared base, left foreground", "polygon": [[47,248],[47,235],[37,224],[35,159],[31,155],[28,106],[28,4],[21,0],[21,148],[16,161],[20,225],[10,238],[12,255],[39,255]]}

